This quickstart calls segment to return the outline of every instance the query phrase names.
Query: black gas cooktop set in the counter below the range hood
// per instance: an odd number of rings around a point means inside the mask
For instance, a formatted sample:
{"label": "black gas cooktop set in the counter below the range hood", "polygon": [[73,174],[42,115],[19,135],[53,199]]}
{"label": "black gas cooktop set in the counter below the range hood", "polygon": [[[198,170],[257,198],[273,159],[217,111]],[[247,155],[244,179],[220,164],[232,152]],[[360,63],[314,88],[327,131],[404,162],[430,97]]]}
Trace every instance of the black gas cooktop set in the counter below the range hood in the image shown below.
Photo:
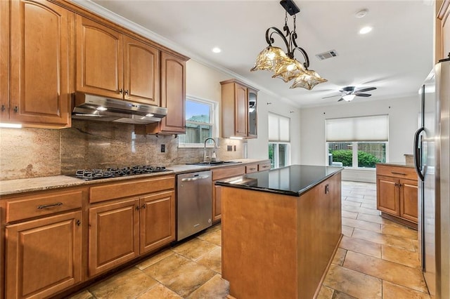
{"label": "black gas cooktop set in the counter below the range hood", "polygon": [[101,178],[116,178],[119,176],[159,173],[162,171],[167,171],[165,166],[136,165],[106,169],[79,169],[77,170],[77,173],[75,173],[75,176],[82,180],[98,180]]}

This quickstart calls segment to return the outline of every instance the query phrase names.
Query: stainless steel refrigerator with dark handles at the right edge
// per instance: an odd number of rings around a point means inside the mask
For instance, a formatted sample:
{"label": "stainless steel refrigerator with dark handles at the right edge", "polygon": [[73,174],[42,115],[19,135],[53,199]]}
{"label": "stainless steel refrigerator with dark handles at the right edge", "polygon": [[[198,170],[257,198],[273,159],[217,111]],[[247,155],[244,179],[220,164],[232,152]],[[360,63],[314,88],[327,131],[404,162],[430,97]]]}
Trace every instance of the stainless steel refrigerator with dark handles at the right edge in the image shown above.
{"label": "stainless steel refrigerator with dark handles at the right edge", "polygon": [[418,240],[432,298],[450,298],[450,58],[439,60],[420,88],[420,125],[414,136],[419,177]]}

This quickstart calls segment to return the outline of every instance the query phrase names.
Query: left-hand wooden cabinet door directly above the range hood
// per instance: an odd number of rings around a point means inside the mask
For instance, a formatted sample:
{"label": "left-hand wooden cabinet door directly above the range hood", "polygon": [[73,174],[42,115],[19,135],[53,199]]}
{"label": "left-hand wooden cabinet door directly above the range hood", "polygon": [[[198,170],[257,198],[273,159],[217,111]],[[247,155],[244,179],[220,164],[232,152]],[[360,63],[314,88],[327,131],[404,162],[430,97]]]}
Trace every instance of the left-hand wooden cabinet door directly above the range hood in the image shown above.
{"label": "left-hand wooden cabinet door directly above the range hood", "polygon": [[123,34],[77,15],[77,91],[123,98]]}

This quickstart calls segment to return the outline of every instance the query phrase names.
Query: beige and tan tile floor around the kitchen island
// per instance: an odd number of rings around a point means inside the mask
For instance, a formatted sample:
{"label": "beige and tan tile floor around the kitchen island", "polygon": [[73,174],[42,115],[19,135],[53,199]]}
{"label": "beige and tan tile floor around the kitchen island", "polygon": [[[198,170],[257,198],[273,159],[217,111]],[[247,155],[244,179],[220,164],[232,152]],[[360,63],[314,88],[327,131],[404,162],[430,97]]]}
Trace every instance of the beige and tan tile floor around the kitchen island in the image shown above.
{"label": "beige and tan tile floor around the kitchen island", "polygon": [[[220,234],[220,226],[212,227],[72,299],[226,298]],[[375,184],[342,182],[342,234],[319,299],[430,298],[420,272],[417,232],[380,217]]]}

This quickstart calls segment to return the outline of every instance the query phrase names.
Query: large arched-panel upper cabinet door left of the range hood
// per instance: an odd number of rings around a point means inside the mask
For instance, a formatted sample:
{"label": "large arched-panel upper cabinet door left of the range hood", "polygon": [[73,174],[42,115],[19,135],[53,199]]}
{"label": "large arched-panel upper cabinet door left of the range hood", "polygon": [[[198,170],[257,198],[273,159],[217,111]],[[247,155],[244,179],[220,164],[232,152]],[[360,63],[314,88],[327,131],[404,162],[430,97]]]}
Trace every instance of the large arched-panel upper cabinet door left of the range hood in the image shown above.
{"label": "large arched-panel upper cabinet door left of the range hood", "polygon": [[49,1],[11,1],[12,121],[70,125],[73,24],[73,13]]}

